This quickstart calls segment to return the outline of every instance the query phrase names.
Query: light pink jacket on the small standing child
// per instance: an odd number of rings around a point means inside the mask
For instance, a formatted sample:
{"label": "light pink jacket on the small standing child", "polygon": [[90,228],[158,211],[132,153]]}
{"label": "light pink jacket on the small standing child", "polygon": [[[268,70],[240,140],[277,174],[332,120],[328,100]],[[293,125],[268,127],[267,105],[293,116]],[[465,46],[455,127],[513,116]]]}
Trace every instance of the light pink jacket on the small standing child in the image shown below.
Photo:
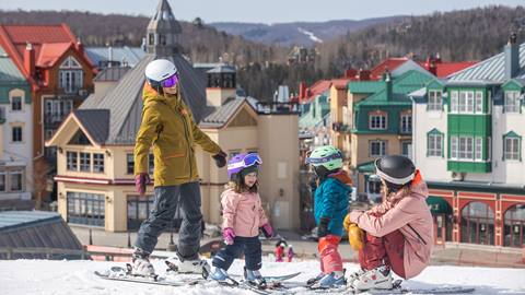
{"label": "light pink jacket on the small standing child", "polygon": [[221,204],[222,228],[233,228],[235,236],[258,236],[259,227],[268,223],[258,193],[228,189],[221,196]]}

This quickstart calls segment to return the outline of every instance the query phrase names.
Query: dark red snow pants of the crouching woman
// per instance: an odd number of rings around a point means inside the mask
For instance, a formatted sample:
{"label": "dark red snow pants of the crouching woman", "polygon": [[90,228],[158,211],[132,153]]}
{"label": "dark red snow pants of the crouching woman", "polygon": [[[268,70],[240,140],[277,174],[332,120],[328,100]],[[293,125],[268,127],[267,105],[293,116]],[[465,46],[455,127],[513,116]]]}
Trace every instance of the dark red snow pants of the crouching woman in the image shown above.
{"label": "dark red snow pants of the crouching woman", "polygon": [[364,247],[359,251],[359,263],[365,270],[387,266],[397,275],[405,276],[405,236],[399,229],[383,237],[366,234]]}

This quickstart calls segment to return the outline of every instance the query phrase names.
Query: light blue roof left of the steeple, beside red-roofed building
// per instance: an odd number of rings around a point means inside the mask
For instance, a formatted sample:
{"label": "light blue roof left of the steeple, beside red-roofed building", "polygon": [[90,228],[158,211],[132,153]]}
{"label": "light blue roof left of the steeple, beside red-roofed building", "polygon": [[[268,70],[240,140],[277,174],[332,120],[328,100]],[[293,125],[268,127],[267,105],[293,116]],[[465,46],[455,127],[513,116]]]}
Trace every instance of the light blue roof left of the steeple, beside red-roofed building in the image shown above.
{"label": "light blue roof left of the steeple, beside red-roofed building", "polygon": [[[129,67],[135,67],[145,56],[144,50],[140,47],[110,47],[112,60],[126,61]],[[85,54],[98,67],[101,61],[109,60],[109,47],[86,47]]]}

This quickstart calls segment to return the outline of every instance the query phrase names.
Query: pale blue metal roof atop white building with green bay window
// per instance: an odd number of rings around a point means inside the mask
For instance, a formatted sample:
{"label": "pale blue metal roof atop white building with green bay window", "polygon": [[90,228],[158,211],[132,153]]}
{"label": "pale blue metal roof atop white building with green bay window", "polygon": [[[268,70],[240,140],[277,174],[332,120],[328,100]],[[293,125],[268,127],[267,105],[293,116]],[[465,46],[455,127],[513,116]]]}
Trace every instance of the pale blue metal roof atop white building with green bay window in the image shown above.
{"label": "pale blue metal roof atop white building with green bay window", "polygon": [[[517,78],[525,78],[525,43],[520,45],[520,68],[522,71]],[[480,61],[460,72],[450,76],[448,81],[492,81],[505,80],[505,56],[503,52]]]}

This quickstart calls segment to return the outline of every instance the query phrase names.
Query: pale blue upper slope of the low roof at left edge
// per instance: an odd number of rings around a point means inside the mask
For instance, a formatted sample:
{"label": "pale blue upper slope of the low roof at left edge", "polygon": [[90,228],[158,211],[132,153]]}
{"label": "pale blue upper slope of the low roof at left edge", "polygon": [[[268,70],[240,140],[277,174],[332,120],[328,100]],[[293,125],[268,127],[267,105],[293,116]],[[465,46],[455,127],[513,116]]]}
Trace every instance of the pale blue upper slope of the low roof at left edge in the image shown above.
{"label": "pale blue upper slope of the low roof at left edge", "polygon": [[46,211],[5,211],[0,212],[0,232],[23,228],[49,221],[61,220],[60,214]]}

